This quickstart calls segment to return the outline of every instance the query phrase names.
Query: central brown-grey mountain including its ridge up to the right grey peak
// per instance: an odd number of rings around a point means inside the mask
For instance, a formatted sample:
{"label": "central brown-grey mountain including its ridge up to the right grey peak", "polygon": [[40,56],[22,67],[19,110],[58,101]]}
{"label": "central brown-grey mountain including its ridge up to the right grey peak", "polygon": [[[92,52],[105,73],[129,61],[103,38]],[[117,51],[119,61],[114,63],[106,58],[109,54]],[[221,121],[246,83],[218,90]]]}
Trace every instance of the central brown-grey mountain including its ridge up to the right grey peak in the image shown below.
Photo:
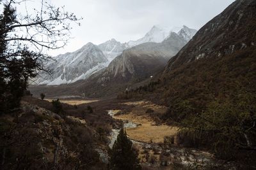
{"label": "central brown-grey mountain including its ridge up to the right grey peak", "polygon": [[186,40],[171,32],[163,43],[143,43],[124,50],[101,76],[108,79],[124,78],[128,81],[135,78],[140,81],[154,74],[159,67],[163,67],[184,45]]}

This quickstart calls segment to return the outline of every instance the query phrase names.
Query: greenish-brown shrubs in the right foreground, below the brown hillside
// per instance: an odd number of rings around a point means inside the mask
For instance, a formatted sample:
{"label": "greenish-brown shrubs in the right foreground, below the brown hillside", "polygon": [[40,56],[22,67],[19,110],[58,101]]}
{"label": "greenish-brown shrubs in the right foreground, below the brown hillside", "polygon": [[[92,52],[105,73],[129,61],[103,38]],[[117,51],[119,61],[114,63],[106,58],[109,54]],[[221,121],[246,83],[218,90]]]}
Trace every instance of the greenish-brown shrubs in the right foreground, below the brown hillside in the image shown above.
{"label": "greenish-brown shrubs in the right foreground, below the brown hillside", "polygon": [[243,150],[256,151],[256,95],[239,90],[232,98],[218,99],[196,116],[179,124],[193,145],[210,146],[216,155],[230,159]]}

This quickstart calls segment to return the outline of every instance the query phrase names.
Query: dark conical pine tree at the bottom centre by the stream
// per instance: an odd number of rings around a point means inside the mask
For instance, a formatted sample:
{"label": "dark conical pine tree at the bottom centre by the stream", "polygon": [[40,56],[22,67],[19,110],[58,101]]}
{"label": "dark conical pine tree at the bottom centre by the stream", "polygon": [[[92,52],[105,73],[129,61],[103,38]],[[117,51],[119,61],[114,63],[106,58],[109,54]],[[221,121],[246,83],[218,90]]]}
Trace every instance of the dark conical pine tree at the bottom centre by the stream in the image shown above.
{"label": "dark conical pine tree at the bottom centre by the stream", "polygon": [[138,152],[132,148],[132,141],[127,138],[124,129],[120,130],[110,153],[109,169],[141,169]]}

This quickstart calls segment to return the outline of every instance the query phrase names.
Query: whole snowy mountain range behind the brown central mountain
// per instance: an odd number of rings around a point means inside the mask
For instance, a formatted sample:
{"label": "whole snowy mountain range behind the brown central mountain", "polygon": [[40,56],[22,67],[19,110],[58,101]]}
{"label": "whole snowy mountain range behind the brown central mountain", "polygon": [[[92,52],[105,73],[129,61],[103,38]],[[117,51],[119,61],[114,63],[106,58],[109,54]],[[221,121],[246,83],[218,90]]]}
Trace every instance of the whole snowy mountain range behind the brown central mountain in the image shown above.
{"label": "whole snowy mountain range behind the brown central mountain", "polygon": [[[108,67],[109,63],[121,55],[124,50],[144,43],[163,42],[161,45],[152,46],[149,44],[149,48],[147,45],[143,46],[143,49],[147,49],[147,53],[138,50],[140,49],[139,47],[134,52],[137,52],[138,55],[142,53],[143,55],[148,53],[150,55],[156,55],[156,53],[161,52],[162,57],[170,59],[182,46],[188,43],[196,32],[195,29],[189,29],[186,26],[183,26],[181,29],[179,28],[175,27],[175,29],[167,31],[167,29],[154,26],[143,38],[137,41],[129,41],[128,43],[120,43],[115,39],[110,39],[98,46],[88,43],[76,52],[65,53],[54,57],[54,61],[47,64],[47,67],[51,69],[53,74],[41,73],[36,78],[35,83],[39,85],[60,85],[85,80],[92,74],[97,73],[97,71]],[[129,52],[132,51],[130,50]],[[132,54],[132,56],[137,56],[137,54]]]}

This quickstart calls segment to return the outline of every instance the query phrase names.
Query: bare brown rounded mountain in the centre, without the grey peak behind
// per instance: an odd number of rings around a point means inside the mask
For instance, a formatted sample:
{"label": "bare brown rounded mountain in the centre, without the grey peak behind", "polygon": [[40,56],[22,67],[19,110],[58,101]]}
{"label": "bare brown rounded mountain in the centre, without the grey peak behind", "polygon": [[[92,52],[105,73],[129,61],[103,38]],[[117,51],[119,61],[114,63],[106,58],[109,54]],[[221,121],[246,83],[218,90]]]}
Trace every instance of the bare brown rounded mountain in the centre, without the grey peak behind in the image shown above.
{"label": "bare brown rounded mountain in the centre, without the grey peak behind", "polygon": [[157,47],[157,43],[145,43],[125,50],[109,64],[104,74],[111,78],[120,76],[130,80],[132,76],[154,73],[154,68],[163,66],[167,62],[166,58],[171,57]]}

